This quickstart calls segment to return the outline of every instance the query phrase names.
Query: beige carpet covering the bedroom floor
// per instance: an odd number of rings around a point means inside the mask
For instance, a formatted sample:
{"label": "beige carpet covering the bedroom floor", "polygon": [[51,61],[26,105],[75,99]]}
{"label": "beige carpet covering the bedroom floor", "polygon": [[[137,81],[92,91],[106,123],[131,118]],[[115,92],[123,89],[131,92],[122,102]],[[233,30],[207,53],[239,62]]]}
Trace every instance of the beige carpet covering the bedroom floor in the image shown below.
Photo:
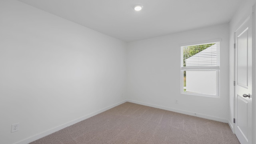
{"label": "beige carpet covering the bedroom floor", "polygon": [[126,102],[30,144],[240,144],[226,123]]}

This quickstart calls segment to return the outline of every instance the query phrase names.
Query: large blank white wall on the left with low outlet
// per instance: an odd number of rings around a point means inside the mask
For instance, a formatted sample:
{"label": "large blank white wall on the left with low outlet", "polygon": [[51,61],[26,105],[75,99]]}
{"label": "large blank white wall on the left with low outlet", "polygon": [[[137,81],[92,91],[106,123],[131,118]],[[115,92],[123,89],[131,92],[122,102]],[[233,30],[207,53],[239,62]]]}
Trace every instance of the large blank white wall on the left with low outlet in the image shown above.
{"label": "large blank white wall on the left with low outlet", "polygon": [[[126,46],[22,2],[1,0],[0,143],[30,142],[126,100]],[[10,133],[17,122],[20,130]]]}

